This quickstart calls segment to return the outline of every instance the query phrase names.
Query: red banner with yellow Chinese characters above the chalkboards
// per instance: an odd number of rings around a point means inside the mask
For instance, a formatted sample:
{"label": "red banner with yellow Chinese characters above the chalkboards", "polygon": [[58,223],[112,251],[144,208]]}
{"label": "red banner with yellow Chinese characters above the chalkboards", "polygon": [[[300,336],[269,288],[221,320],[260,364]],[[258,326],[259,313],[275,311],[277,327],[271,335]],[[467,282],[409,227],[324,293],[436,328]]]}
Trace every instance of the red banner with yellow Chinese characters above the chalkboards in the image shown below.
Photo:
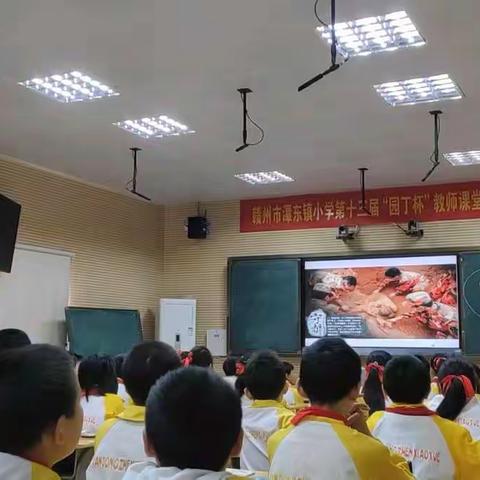
{"label": "red banner with yellow Chinese characters above the chalkboards", "polygon": [[480,218],[480,182],[241,200],[240,231]]}

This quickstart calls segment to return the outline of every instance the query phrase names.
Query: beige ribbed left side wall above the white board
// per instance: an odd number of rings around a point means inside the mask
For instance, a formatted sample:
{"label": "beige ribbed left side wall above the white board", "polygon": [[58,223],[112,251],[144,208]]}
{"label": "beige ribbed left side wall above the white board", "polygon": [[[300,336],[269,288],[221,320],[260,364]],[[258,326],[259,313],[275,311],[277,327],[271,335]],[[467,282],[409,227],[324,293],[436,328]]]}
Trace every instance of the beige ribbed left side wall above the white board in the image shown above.
{"label": "beige ribbed left side wall above the white board", "polygon": [[65,250],[70,304],[137,308],[153,338],[161,289],[163,208],[0,160],[0,192],[22,204],[18,241]]}

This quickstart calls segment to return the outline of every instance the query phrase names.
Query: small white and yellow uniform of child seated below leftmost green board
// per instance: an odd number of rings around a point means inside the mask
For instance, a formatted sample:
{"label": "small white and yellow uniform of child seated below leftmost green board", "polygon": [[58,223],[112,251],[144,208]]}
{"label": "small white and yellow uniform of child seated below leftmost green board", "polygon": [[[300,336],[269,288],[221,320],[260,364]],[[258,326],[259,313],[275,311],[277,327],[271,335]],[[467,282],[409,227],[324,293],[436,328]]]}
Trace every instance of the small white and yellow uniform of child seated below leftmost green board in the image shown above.
{"label": "small white and yellow uniform of child seated below leftmost green board", "polygon": [[109,418],[114,418],[124,410],[123,400],[115,394],[105,396],[90,395],[88,400],[82,397],[80,404],[83,408],[82,435],[95,436],[98,427]]}

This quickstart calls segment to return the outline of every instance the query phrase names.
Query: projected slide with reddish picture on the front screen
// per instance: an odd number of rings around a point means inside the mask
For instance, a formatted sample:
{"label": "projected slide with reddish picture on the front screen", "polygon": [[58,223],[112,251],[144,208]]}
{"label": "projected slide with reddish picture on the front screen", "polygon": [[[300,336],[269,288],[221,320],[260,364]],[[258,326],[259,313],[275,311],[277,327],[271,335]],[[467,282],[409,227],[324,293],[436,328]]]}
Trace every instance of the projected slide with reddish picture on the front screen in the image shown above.
{"label": "projected slide with reddish picture on the front screen", "polygon": [[459,348],[452,255],[308,261],[308,345],[341,336],[357,347]]}

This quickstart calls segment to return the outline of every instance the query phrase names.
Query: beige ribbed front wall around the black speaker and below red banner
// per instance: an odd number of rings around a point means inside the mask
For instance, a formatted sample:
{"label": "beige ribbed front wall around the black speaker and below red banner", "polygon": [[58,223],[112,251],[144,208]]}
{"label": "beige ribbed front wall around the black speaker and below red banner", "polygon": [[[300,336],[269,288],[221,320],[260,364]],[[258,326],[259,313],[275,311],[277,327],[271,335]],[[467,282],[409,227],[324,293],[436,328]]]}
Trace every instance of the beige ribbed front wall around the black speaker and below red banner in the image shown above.
{"label": "beige ribbed front wall around the black speaker and below red banner", "polygon": [[207,240],[188,240],[184,220],[194,205],[165,209],[163,296],[198,299],[197,343],[205,342],[208,328],[225,327],[227,316],[226,265],[230,256],[339,255],[480,246],[480,219],[424,224],[425,238],[407,238],[394,225],[362,228],[351,244],[335,239],[335,229],[239,233],[239,202],[203,205],[208,210],[211,234]]}

